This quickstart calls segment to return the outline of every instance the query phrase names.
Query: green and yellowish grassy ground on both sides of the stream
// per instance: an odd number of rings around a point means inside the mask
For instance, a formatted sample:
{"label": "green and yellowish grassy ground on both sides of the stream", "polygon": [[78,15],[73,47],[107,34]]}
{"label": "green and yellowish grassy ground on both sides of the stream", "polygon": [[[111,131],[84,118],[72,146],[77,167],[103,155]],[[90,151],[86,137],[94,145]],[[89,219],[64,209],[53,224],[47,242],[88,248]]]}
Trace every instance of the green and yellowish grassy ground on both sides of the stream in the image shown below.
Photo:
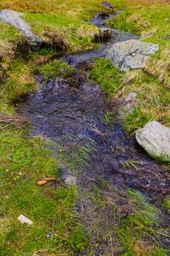
{"label": "green and yellowish grassy ground on both sides of the stream", "polygon": [[[129,1],[110,1],[112,4],[125,7]],[[148,42],[157,42],[161,50],[152,59],[146,71],[120,73],[112,64],[104,59],[96,62],[91,72],[91,78],[101,83],[111,97],[123,89],[125,96],[130,91],[136,91],[143,104],[136,108],[131,116],[125,119],[125,128],[133,133],[152,118],[169,125],[169,5],[163,4],[150,7],[150,1],[130,1],[129,11],[125,11],[117,21],[111,21],[112,26],[137,33],[147,34],[155,31]],[[161,1],[159,1],[159,4]],[[141,7],[138,8],[138,4]],[[141,5],[142,4],[142,5]],[[162,3],[161,3],[162,4]],[[94,13],[104,10],[101,1],[5,1],[1,0],[0,8],[10,8],[26,13],[26,20],[32,24],[35,33],[48,42],[61,44],[63,51],[80,51],[96,47],[93,40],[98,36],[98,29],[83,23],[93,17]],[[55,66],[42,65],[49,56],[61,53],[61,48],[43,48],[28,54],[20,52],[24,40],[20,32],[4,23],[0,23],[1,53],[1,87],[0,111],[5,113],[6,120],[0,120],[0,255],[81,255],[88,249],[88,254],[94,255],[94,248],[105,243],[108,246],[107,255],[119,253],[124,256],[135,255],[168,255],[166,249],[158,246],[166,235],[159,227],[159,211],[138,192],[127,192],[126,200],[134,204],[134,214],[121,217],[117,203],[112,203],[102,196],[100,189],[94,187],[87,197],[96,206],[98,213],[109,207],[115,216],[114,225],[109,231],[100,234],[98,241],[93,242],[90,230],[82,221],[83,216],[75,211],[80,192],[77,187],[66,188],[61,182],[52,181],[45,187],[38,187],[36,182],[45,176],[60,178],[61,166],[58,156],[50,151],[50,143],[39,138],[28,138],[27,130],[20,123],[15,125],[10,119],[15,116],[12,101],[28,91],[36,91],[37,85],[33,72],[39,66],[45,72],[47,79],[53,72],[61,72],[62,63]],[[160,62],[163,61],[163,62]],[[157,69],[152,69],[157,64]],[[163,69],[160,68],[163,65]],[[65,64],[64,64],[65,65]],[[162,66],[161,66],[162,67]],[[65,67],[64,68],[68,68]],[[67,69],[68,70],[68,69]],[[53,72],[52,72],[53,71]],[[70,69],[69,69],[70,71]],[[73,70],[71,70],[73,71]],[[67,72],[66,72],[67,74]],[[60,75],[60,74],[59,74]],[[131,78],[131,79],[130,79]],[[108,115],[106,116],[108,119]],[[81,152],[80,152],[81,153]],[[77,154],[76,154],[77,156]],[[84,157],[84,155],[83,155]],[[83,158],[84,159],[84,158]],[[72,159],[70,167],[82,162],[81,154],[78,159]],[[68,159],[67,159],[68,161]],[[107,184],[102,181],[103,187]],[[115,198],[119,192],[115,189]],[[84,195],[83,195],[84,196]],[[110,209],[112,206],[112,209]],[[169,197],[165,197],[162,207],[169,212]],[[18,216],[25,215],[34,225],[29,227],[18,222]],[[91,212],[92,214],[92,212]],[[103,223],[102,223],[103,221]],[[106,225],[105,219],[93,224],[94,233],[98,227]],[[91,228],[91,227],[90,227]],[[53,236],[47,234],[53,231]],[[158,237],[157,237],[158,235]],[[158,240],[155,241],[155,236]],[[106,255],[106,254],[105,254]]]}

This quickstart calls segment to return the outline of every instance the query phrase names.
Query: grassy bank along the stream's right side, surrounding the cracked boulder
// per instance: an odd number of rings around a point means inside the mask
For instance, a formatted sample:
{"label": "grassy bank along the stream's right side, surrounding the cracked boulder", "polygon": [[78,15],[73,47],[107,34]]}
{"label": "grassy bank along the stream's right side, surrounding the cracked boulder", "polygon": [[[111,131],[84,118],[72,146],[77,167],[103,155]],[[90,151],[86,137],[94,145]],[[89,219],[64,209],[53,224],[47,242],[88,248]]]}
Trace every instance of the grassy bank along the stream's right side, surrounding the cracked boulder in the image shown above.
{"label": "grassy bank along the stream's right side, surrounding the cracked boulder", "polygon": [[120,73],[108,60],[98,60],[91,78],[101,83],[112,97],[127,97],[130,92],[137,94],[139,105],[123,120],[125,129],[133,135],[152,120],[170,126],[170,5],[166,1],[163,4],[151,4],[151,1],[123,3],[128,4],[128,10],[110,20],[110,25],[139,34],[144,42],[157,43],[160,50],[144,70]]}

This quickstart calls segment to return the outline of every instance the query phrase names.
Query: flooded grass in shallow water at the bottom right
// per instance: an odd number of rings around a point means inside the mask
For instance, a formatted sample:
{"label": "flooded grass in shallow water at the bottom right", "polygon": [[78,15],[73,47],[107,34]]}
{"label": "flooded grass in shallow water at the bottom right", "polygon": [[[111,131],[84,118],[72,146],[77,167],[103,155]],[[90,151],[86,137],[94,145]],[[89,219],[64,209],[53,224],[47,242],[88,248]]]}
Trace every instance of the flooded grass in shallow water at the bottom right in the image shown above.
{"label": "flooded grass in shallow water at the bottom right", "polygon": [[[93,206],[86,208],[86,211],[90,211],[87,214],[96,221],[93,225],[90,222],[88,228],[96,238],[96,248],[99,244],[104,246],[101,255],[169,255],[166,243],[169,230],[161,229],[161,212],[141,193],[127,190],[124,194],[114,187],[111,190],[107,184],[102,189],[95,185],[87,195],[89,199]],[[164,249],[159,243],[164,244]]]}

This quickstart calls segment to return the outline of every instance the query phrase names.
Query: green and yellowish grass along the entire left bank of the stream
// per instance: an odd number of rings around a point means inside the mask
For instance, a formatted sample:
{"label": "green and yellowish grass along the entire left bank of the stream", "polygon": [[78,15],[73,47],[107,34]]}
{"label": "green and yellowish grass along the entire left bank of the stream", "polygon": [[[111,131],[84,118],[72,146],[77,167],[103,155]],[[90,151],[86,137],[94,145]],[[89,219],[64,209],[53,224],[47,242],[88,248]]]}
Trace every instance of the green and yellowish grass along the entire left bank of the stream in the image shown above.
{"label": "green and yellowish grass along the entire left bank of the stream", "polygon": [[[41,1],[42,6],[45,2]],[[4,7],[2,4],[1,2],[1,7]],[[98,29],[82,23],[81,17],[92,17],[96,8],[100,10],[101,6],[96,7],[96,3],[90,1],[88,12],[84,10],[82,13],[76,8],[72,17],[69,17],[68,7],[73,3],[69,1],[67,4],[60,14],[28,13],[26,19],[33,24],[32,28],[36,33],[49,42],[56,42],[62,48],[64,46],[64,50],[93,48],[92,41],[96,34],[98,35]],[[87,7],[87,4],[85,6]],[[24,7],[28,11],[27,3],[24,3]],[[75,8],[75,4],[72,8]],[[3,83],[0,88],[0,110],[12,118],[15,108],[11,102],[29,91],[36,91],[33,72],[37,65],[41,67],[40,71],[47,80],[55,75],[68,77],[74,74],[74,69],[62,61],[42,65],[49,56],[58,53],[58,50],[50,48],[38,50],[34,54],[28,52],[28,59],[23,59],[19,48],[16,52],[18,43],[23,40],[21,34],[7,24],[0,23],[0,27],[1,51],[4,53],[1,74],[6,78],[1,79]],[[6,74],[4,70],[7,71]],[[53,153],[46,149],[46,143],[38,138],[28,138],[26,132],[28,131],[23,129],[21,124],[8,126],[5,122],[0,130],[0,255],[82,253],[90,244],[90,236],[85,232],[81,214],[74,211],[79,197],[77,188],[67,189],[59,182],[49,182],[44,187],[37,186],[37,181],[45,176],[60,178],[61,167]],[[80,148],[80,153],[77,152],[72,152],[74,162],[81,161],[82,165],[88,157],[88,152],[86,148]],[[34,225],[29,227],[18,222],[20,214],[31,219]],[[53,236],[47,238],[51,231]]]}

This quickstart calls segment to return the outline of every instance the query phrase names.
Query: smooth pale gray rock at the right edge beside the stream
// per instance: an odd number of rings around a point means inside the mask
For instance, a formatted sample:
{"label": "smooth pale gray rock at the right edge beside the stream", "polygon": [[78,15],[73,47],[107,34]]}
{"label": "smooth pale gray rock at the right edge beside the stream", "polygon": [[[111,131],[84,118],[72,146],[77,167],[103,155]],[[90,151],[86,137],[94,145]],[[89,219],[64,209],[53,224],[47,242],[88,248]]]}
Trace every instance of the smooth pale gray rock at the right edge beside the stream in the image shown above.
{"label": "smooth pale gray rock at the right edge beside the stream", "polygon": [[170,159],[170,128],[150,121],[136,132],[136,140],[151,157]]}

